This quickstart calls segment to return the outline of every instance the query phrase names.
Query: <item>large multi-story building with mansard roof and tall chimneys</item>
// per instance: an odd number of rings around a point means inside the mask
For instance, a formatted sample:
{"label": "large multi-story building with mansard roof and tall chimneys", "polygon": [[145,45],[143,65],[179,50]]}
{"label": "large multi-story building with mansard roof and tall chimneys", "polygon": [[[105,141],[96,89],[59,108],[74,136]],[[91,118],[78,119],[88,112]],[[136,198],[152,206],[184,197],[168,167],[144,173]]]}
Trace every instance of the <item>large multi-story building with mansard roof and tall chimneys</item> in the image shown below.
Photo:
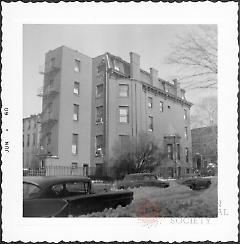
{"label": "large multi-story building with mansard roof and tall chimneys", "polygon": [[45,60],[41,146],[58,158],[47,164],[111,167],[114,144],[145,131],[166,146],[169,161],[183,163],[179,174],[189,172],[192,104],[176,80],[142,70],[136,53],[130,62],[110,53],[92,59],[62,46]]}

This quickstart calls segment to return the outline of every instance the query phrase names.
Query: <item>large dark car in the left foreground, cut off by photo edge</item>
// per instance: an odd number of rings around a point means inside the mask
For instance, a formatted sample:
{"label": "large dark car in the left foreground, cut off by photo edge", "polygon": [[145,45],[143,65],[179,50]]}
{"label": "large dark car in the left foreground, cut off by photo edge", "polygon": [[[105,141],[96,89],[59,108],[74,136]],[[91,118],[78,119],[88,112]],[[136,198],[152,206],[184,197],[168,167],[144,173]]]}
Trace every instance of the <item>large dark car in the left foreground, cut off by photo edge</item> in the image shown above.
{"label": "large dark car in the left foreground, cut off by photo edge", "polygon": [[67,217],[126,206],[131,191],[95,191],[91,180],[79,176],[23,177],[24,217]]}

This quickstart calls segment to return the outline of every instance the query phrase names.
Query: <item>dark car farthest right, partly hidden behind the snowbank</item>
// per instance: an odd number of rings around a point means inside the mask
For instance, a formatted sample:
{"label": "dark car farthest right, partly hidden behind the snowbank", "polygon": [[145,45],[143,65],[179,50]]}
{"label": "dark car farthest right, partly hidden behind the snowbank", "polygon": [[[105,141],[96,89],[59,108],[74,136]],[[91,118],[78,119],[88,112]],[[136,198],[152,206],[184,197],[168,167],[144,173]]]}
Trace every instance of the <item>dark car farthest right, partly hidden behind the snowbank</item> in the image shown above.
{"label": "dark car farthest right, partly hidden behind the snowbank", "polygon": [[178,182],[181,185],[186,185],[192,190],[207,189],[211,185],[211,179],[209,178],[188,178]]}

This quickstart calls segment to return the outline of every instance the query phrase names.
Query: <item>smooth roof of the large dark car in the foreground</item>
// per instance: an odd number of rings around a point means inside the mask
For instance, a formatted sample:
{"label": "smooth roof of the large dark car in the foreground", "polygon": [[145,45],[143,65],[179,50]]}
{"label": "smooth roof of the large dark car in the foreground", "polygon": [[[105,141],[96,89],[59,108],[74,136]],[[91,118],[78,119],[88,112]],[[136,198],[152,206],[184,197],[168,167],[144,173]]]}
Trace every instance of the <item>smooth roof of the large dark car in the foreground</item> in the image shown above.
{"label": "smooth roof of the large dark car in the foreground", "polygon": [[40,188],[46,188],[54,184],[66,183],[69,181],[91,181],[88,177],[84,176],[24,176],[23,182],[31,183],[39,186]]}

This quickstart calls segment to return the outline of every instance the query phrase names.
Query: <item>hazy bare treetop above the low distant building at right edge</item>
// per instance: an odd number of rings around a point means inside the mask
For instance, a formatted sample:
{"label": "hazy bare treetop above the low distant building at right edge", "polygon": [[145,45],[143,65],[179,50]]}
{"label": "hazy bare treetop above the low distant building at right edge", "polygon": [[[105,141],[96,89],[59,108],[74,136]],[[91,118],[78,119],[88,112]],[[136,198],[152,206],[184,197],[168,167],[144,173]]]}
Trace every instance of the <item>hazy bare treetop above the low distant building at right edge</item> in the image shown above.
{"label": "hazy bare treetop above the low distant building at right edge", "polygon": [[199,104],[193,106],[191,127],[205,127],[217,125],[217,97],[204,97]]}

